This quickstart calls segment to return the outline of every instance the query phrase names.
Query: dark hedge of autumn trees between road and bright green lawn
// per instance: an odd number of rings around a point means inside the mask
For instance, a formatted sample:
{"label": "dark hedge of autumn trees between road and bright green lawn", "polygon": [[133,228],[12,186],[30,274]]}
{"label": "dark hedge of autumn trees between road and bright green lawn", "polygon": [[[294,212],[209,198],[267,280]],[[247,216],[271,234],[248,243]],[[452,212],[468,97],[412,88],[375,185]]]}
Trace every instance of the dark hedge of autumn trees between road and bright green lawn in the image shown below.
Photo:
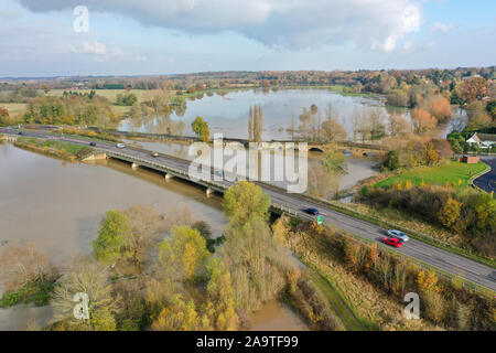
{"label": "dark hedge of autumn trees between road and bright green lawn", "polygon": [[463,248],[489,258],[496,255],[496,200],[492,194],[451,186],[398,184],[387,189],[364,188],[360,199],[450,229]]}

